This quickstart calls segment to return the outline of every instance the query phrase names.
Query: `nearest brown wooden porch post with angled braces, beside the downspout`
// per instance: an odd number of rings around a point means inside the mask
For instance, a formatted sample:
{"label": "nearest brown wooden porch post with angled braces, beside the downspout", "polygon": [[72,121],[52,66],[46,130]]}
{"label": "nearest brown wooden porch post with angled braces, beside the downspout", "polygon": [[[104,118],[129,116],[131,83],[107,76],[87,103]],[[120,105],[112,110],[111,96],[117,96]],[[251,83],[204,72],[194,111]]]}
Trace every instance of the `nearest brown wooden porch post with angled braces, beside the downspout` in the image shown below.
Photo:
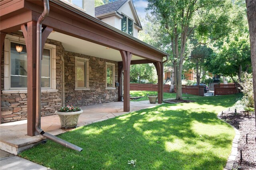
{"label": "nearest brown wooden porch post with angled braces, beside the downspout", "polygon": [[[27,25],[21,25],[21,29],[26,41],[26,50],[28,57],[28,77],[27,77],[27,89],[28,89],[28,124],[27,134],[29,136],[35,136],[36,129],[36,22],[30,21]],[[48,37],[52,32],[51,27],[44,27],[42,30],[42,48]]]}

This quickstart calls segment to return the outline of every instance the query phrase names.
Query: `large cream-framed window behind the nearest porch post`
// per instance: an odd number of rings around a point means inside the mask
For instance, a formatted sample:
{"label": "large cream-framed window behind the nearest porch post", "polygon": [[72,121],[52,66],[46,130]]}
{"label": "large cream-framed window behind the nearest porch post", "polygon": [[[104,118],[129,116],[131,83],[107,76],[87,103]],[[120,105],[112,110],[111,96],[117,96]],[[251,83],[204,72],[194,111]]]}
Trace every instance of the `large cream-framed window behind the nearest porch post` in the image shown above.
{"label": "large cream-framed window behind the nearest porch post", "polygon": [[[6,35],[4,44],[4,90],[2,90],[2,93],[26,93],[28,58],[25,39],[14,35]],[[23,46],[20,53],[17,52],[16,45]],[[56,46],[46,43],[42,55],[41,91],[57,92]]]}

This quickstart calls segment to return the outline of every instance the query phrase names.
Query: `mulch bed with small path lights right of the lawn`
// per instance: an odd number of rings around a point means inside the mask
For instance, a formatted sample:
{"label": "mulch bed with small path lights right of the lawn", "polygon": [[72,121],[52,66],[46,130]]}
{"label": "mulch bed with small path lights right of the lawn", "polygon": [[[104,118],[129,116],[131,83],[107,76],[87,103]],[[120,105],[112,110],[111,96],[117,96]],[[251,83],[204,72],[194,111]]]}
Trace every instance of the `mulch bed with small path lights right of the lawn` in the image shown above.
{"label": "mulch bed with small path lights right of the lawn", "polygon": [[[241,135],[234,170],[256,170],[255,115],[245,115],[242,110],[234,113],[232,108],[230,111],[224,111],[220,118],[223,120],[226,118],[226,122],[236,127]],[[248,143],[246,143],[246,134],[248,134]],[[242,150],[242,163],[240,163],[240,150]]]}

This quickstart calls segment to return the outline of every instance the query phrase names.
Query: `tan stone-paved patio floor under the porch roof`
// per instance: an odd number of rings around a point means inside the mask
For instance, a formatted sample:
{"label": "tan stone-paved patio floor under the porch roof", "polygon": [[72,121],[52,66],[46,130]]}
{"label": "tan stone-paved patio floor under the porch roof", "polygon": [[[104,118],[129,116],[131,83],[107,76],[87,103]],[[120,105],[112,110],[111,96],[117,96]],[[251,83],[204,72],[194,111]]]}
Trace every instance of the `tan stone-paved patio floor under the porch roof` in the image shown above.
{"label": "tan stone-paved patio floor under the porch roof", "polygon": [[[130,102],[130,112],[157,105],[159,104],[150,104],[148,100]],[[77,126],[84,126],[129,113],[123,111],[123,106],[123,102],[82,106],[83,113],[79,117]],[[58,115],[41,117],[41,128],[52,135],[59,135],[74,129],[60,128],[60,119]],[[26,134],[27,120],[0,124],[0,149],[12,154],[18,154],[46,139],[41,135],[30,137]]]}

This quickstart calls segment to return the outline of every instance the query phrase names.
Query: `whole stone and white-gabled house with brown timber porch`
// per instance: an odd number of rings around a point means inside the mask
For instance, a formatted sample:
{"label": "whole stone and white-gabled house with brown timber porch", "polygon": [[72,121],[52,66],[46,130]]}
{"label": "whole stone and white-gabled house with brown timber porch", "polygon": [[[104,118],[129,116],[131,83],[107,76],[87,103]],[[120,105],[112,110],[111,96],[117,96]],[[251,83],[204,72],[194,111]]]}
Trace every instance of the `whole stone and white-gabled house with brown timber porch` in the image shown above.
{"label": "whole stone and white-gabled house with brown timber porch", "polygon": [[[0,3],[1,122],[28,119],[30,136],[37,135],[36,22],[43,5],[42,0]],[[94,0],[50,0],[42,29],[41,115],[67,104],[121,101],[122,95],[124,111],[130,111],[130,64],[155,64],[161,103],[167,54],[136,39],[141,29],[131,0],[96,9]]]}

